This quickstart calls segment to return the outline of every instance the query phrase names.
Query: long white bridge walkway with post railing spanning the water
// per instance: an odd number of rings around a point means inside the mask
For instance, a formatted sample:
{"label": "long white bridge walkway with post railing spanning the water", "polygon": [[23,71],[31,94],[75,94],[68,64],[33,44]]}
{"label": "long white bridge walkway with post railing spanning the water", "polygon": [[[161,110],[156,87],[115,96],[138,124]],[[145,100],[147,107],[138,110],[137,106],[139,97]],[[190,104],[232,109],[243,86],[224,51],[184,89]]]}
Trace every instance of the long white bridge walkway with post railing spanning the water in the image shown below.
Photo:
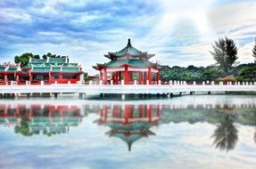
{"label": "long white bridge walkway with post railing spanning the water", "polygon": [[0,93],[194,93],[194,92],[256,92],[256,82],[236,82],[215,84],[214,82],[186,83],[185,81],[152,82],[149,84],[125,84],[122,80],[120,84],[109,82],[103,84],[90,81],[88,83],[80,81],[77,84],[45,84],[43,81],[37,84],[27,81],[24,84],[10,82],[0,85]]}

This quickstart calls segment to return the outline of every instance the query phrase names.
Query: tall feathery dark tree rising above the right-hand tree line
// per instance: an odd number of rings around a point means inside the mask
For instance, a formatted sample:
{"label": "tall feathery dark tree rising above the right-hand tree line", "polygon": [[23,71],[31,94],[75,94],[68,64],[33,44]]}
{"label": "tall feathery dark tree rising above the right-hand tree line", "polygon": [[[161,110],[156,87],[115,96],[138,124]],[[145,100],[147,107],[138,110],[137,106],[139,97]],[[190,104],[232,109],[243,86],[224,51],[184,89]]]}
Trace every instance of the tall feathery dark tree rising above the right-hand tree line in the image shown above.
{"label": "tall feathery dark tree rising above the right-hand tree line", "polygon": [[228,70],[232,67],[237,60],[237,48],[235,42],[232,39],[219,38],[218,41],[215,41],[212,44],[213,52],[211,55],[214,60],[219,64],[219,68],[222,68],[223,71],[227,74]]}

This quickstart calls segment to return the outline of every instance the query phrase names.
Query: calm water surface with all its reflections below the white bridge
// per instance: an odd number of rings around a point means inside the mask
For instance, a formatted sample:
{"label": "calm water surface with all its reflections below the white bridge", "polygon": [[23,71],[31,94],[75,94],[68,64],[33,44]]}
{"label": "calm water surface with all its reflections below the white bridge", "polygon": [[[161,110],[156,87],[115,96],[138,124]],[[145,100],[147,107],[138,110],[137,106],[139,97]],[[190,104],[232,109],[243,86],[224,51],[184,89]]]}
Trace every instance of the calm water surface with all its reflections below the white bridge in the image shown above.
{"label": "calm water surface with all its reflections below the white bridge", "polygon": [[256,97],[0,101],[0,168],[256,168]]}

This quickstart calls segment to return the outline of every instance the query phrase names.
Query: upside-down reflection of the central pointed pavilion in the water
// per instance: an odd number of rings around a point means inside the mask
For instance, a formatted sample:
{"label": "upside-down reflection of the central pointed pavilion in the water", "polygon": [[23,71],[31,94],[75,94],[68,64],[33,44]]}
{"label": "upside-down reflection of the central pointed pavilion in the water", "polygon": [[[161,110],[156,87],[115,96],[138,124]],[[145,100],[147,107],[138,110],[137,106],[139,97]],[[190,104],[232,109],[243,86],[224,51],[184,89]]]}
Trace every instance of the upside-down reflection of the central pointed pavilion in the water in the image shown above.
{"label": "upside-down reflection of the central pointed pavilion in the water", "polygon": [[131,150],[133,142],[154,135],[150,128],[158,125],[160,116],[159,105],[113,105],[112,108],[105,105],[95,122],[109,126],[111,130],[106,134],[127,142]]}

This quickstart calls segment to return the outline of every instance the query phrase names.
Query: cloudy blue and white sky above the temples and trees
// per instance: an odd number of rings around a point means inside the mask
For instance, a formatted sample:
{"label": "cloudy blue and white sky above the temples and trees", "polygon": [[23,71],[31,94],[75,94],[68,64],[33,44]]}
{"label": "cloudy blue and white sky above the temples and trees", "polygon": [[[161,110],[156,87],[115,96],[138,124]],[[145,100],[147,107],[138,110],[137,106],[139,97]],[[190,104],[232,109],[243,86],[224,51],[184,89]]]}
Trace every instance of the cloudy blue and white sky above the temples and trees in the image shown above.
{"label": "cloudy blue and white sky above the temples and trees", "polygon": [[69,55],[95,74],[107,52],[131,44],[162,65],[208,66],[220,37],[252,62],[255,0],[0,0],[0,63],[23,52]]}

